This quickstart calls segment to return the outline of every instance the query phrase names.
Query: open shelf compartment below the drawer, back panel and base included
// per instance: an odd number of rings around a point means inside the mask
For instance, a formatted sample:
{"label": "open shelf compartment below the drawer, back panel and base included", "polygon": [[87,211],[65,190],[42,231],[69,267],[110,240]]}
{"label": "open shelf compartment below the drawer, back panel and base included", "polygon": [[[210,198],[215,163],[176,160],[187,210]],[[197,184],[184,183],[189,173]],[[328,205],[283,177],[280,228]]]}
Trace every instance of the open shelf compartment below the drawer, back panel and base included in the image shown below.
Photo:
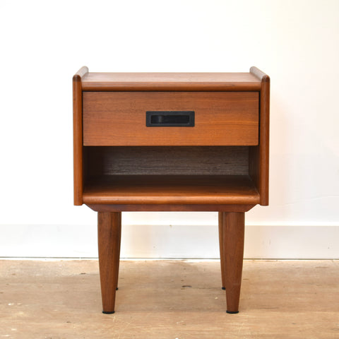
{"label": "open shelf compartment below the drawer, back panel and base included", "polygon": [[87,204],[256,204],[246,146],[86,146]]}

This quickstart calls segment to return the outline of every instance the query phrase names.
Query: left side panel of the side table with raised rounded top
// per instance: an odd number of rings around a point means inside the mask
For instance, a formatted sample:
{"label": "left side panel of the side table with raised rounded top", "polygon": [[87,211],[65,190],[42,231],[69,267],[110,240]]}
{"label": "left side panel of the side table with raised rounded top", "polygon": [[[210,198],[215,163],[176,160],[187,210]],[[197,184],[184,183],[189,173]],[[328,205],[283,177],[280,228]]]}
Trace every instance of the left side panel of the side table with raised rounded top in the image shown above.
{"label": "left side panel of the side table with raised rounded top", "polygon": [[82,67],[73,76],[73,178],[74,205],[83,203],[83,92],[81,80],[88,73]]}

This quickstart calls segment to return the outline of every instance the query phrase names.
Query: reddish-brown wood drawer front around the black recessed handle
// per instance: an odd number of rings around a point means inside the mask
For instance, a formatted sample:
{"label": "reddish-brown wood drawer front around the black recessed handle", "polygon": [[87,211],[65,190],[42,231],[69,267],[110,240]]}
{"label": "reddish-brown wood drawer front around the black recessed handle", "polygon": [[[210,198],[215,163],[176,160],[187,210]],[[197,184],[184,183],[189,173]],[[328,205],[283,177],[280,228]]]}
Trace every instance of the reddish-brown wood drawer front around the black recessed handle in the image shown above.
{"label": "reddish-brown wood drawer front around the black recessed handle", "polygon": [[[83,92],[83,145],[258,145],[258,92]],[[194,127],[146,127],[194,111]]]}

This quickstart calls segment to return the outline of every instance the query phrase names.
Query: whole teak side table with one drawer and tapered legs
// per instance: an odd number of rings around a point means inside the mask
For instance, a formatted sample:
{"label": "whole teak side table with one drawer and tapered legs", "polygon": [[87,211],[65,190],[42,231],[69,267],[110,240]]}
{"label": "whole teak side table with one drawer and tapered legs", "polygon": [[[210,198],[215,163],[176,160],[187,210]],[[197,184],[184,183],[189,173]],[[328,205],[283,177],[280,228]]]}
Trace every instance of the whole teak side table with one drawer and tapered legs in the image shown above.
{"label": "whole teak side table with one drawer and tapered legs", "polygon": [[74,205],[97,211],[104,313],[122,211],[218,211],[222,288],[237,313],[244,213],[268,205],[270,79],[249,73],[73,76]]}

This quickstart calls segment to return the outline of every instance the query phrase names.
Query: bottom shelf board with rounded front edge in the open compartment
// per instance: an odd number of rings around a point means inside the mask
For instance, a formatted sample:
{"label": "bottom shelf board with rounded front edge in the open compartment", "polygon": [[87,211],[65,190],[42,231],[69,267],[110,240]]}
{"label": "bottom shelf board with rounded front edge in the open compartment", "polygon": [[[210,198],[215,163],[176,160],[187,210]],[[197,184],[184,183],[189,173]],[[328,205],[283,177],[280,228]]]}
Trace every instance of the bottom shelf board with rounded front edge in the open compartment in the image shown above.
{"label": "bottom shelf board with rounded front edge in the open compartment", "polygon": [[86,183],[83,202],[118,205],[255,205],[260,196],[246,175],[110,175]]}

